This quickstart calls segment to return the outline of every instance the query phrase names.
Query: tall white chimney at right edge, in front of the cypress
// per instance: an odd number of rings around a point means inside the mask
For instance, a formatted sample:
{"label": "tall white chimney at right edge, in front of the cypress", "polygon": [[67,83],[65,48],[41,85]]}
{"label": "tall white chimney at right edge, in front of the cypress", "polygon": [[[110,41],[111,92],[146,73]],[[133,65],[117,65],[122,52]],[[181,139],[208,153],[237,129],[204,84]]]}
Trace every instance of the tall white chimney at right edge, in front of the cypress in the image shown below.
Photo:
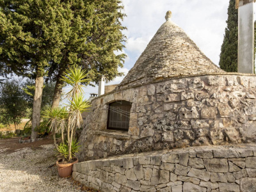
{"label": "tall white chimney at right edge, in front of the cypress", "polygon": [[253,74],[255,0],[236,0],[238,8],[238,56],[237,72]]}

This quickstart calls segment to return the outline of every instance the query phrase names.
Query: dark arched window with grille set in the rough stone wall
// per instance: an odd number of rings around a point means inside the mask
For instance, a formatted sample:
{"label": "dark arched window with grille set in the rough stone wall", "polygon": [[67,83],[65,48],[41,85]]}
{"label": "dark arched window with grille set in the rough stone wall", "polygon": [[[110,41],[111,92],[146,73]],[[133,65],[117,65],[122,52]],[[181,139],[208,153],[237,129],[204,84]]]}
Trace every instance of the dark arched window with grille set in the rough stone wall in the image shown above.
{"label": "dark arched window with grille set in the rough stone wall", "polygon": [[109,104],[108,129],[128,131],[131,103],[119,100]]}

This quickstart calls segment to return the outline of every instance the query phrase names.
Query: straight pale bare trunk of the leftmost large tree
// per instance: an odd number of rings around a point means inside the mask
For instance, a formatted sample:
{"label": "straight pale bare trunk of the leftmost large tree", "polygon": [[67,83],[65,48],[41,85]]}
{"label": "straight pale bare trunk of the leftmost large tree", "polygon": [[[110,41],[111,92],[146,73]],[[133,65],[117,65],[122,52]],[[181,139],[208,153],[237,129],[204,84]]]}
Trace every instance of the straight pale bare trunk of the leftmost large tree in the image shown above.
{"label": "straight pale bare trunk of the leftmost large tree", "polygon": [[44,86],[44,77],[36,76],[35,82],[35,94],[33,100],[33,112],[32,112],[32,130],[31,130],[31,139],[35,139],[37,136],[36,127],[40,124],[40,112],[42,104],[42,92]]}

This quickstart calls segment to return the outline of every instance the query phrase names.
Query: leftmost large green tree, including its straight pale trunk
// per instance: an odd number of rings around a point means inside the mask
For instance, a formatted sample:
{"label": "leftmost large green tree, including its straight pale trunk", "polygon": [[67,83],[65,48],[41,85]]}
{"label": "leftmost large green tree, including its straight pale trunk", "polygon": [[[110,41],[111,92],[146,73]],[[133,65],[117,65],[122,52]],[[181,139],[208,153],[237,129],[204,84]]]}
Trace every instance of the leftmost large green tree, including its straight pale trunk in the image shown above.
{"label": "leftmost large green tree, including its straight pale trunk", "polygon": [[35,79],[33,139],[40,124],[45,70],[49,61],[60,62],[68,38],[67,15],[58,0],[0,1],[0,67]]}

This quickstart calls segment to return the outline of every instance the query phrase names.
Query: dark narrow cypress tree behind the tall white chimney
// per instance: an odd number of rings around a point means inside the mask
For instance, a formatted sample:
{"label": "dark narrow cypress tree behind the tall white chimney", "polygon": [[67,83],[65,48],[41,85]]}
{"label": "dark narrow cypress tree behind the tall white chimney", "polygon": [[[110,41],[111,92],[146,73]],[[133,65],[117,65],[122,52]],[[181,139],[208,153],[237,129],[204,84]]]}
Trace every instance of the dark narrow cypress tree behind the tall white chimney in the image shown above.
{"label": "dark narrow cypress tree behind the tall white chimney", "polygon": [[[226,72],[237,72],[237,47],[238,47],[238,10],[236,0],[230,0],[228,5],[227,28],[220,53],[220,68]],[[255,26],[255,24],[254,24]],[[255,35],[256,29],[254,28]],[[255,53],[256,41],[254,42]],[[255,55],[255,54],[254,54]],[[254,64],[255,68],[255,64]]]}

